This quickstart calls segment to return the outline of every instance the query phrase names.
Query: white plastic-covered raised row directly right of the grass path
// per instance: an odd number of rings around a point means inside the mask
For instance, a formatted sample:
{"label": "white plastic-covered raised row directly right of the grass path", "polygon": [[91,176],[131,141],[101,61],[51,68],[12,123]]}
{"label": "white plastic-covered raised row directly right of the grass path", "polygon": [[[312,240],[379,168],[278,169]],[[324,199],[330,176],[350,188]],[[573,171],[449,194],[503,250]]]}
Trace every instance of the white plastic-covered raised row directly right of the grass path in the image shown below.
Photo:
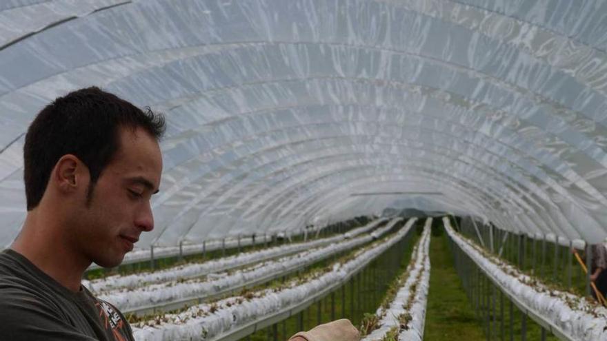
{"label": "white plastic-covered raised row directly right of the grass path", "polygon": [[[506,264],[459,236],[450,220],[443,218],[451,240],[477,265],[485,276],[517,307],[541,327],[561,340],[607,340],[607,309],[592,307],[584,298],[551,290],[535,282],[515,267]],[[524,319],[523,319],[524,320]]]}

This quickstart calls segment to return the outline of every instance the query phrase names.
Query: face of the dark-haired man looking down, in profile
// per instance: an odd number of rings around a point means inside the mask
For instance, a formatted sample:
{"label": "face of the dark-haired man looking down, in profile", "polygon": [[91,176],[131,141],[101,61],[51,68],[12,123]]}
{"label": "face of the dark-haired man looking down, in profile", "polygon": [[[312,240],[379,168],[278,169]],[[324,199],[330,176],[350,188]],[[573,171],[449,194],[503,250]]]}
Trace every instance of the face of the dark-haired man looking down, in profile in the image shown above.
{"label": "face of the dark-haired man looking down, in profile", "polygon": [[121,129],[120,145],[74,217],[72,236],[88,260],[116,267],[142,231],[154,228],[150,197],[158,191],[162,172],[155,138],[137,128]]}

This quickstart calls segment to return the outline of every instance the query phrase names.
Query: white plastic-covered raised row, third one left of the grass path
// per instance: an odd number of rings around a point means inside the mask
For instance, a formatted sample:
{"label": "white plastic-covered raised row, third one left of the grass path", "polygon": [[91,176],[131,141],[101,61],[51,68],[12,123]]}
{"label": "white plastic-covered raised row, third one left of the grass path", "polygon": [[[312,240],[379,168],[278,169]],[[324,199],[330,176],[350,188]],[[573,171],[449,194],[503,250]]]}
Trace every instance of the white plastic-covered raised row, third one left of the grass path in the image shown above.
{"label": "white plastic-covered raised row, third one left of the grass path", "polygon": [[[282,276],[287,276],[301,268],[324,260],[341,252],[348,251],[376,236],[388,233],[402,218],[395,218],[388,225],[373,231],[371,235],[346,240],[320,249],[304,251],[301,254],[287,256],[279,260],[261,263],[249,269],[234,273],[217,273],[208,280],[190,280],[186,282],[166,282],[161,285],[141,287],[130,291],[110,292],[98,295],[102,300],[115,304],[123,313],[146,316],[163,313],[183,307],[191,307],[201,302],[234,294],[246,287],[254,287]],[[373,236],[372,236],[373,235]]]}

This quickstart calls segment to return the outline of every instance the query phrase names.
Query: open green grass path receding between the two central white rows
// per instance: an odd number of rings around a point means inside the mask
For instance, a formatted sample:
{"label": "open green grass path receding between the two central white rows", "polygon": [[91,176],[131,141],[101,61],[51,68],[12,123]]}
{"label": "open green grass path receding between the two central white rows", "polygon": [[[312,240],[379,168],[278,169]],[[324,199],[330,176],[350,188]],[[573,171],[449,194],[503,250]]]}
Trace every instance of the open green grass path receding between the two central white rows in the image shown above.
{"label": "open green grass path receding between the two central white rows", "polygon": [[455,272],[446,236],[430,240],[430,291],[424,340],[485,340]]}

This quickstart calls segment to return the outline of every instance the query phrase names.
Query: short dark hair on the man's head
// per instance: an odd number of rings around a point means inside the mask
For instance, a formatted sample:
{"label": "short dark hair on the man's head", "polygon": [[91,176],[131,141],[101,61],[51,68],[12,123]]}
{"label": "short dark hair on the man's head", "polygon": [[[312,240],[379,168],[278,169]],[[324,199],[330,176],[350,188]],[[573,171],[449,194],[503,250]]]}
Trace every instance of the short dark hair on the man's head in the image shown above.
{"label": "short dark hair on the man's head", "polygon": [[66,154],[88,167],[90,195],[120,147],[120,127],[141,127],[159,140],[165,121],[149,107],[143,111],[99,87],[70,92],[44,107],[28,128],[23,146],[28,211],[40,203],[54,165]]}

